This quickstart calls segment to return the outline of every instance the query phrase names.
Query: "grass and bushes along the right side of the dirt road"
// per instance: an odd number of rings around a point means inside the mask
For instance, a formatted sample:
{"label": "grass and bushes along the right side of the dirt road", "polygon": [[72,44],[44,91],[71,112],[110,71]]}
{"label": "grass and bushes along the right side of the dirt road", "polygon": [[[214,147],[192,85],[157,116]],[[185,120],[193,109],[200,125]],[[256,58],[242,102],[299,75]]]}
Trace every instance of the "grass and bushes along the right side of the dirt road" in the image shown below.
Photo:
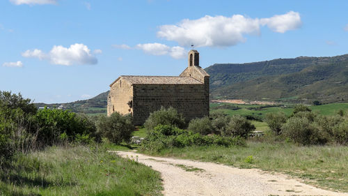
{"label": "grass and bushes along the right side of the dirt road", "polygon": [[[158,123],[147,130],[140,150],[155,156],[283,172],[321,188],[347,192],[348,115],[345,107],[335,107],[331,115],[305,105],[285,108],[287,113],[275,110],[277,107],[257,106],[253,111],[274,110],[264,112],[258,119],[248,114],[229,115],[219,109],[211,110],[209,117],[191,120],[183,129]],[[262,134],[256,135],[254,130],[262,130]],[[210,138],[234,142],[206,142]],[[182,144],[180,141],[191,142]]]}

